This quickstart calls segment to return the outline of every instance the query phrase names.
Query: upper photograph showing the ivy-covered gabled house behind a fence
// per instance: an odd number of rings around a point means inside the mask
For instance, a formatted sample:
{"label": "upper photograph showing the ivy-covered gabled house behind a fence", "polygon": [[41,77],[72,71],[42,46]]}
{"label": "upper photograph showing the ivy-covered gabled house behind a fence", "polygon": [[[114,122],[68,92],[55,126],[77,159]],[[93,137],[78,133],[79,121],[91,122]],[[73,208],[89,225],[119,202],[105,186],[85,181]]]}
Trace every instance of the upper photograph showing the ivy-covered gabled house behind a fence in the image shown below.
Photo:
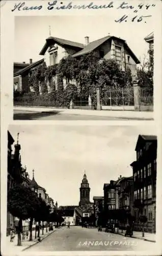
{"label": "upper photograph showing the ivy-covered gabled house behind a fence", "polygon": [[153,120],[151,18],[16,16],[14,120]]}

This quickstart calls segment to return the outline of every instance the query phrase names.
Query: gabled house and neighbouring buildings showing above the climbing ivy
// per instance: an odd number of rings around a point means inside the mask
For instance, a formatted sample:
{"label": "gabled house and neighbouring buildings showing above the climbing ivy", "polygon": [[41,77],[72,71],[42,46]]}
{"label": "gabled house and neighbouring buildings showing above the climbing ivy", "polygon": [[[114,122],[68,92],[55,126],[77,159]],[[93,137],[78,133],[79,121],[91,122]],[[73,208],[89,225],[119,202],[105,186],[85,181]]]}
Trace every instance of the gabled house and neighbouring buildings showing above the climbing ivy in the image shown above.
{"label": "gabled house and neighbouring buildings showing above the climbing ivy", "polygon": [[[144,39],[150,47],[153,47],[153,33]],[[80,44],[79,42],[50,36],[45,40],[45,44],[39,53],[44,58],[35,62],[30,59],[29,63],[14,62],[14,90],[34,92],[34,88],[29,84],[29,77],[43,62],[46,63],[47,67],[53,66],[67,56],[80,58],[94,51],[98,54],[99,59],[115,59],[122,71],[126,71],[129,68],[132,81],[137,79],[137,65],[140,61],[127,42],[120,37],[107,35],[90,42],[89,37],[86,36],[85,44]],[[52,79],[53,83],[55,83],[55,90],[57,90],[57,75],[53,76]],[[66,80],[63,80],[63,84],[66,86]],[[47,90],[48,92],[52,90],[49,81],[47,81]],[[41,84],[39,84],[39,92],[40,94],[42,93]]]}

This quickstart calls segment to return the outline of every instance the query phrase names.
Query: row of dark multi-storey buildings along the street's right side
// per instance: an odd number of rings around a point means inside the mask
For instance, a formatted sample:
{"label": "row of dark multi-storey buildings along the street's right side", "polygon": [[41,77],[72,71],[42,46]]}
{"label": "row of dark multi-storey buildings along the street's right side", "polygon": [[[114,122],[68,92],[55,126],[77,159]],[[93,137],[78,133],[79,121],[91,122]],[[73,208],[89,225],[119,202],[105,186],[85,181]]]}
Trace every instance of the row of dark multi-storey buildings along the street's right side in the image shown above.
{"label": "row of dark multi-storey buildings along the street's right side", "polygon": [[[145,231],[156,231],[156,136],[139,135],[135,148],[137,159],[130,163],[132,176],[104,183],[103,196],[95,196],[94,213],[103,209],[125,210],[133,217],[134,230],[141,230],[140,216],[146,216]],[[125,223],[126,225],[126,223]]]}

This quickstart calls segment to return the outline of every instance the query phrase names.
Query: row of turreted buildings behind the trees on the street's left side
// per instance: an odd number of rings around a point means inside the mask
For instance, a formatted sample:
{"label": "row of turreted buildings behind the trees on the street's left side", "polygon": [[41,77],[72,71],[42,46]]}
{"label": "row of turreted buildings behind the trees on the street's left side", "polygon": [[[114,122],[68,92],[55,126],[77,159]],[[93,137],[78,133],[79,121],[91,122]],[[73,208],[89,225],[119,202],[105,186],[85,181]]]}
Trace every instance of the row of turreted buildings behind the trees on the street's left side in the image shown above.
{"label": "row of turreted buildings behind the trees on the street's left side", "polygon": [[[32,179],[29,176],[29,173],[26,171],[26,167],[22,167],[21,164],[21,155],[20,150],[21,146],[18,142],[17,135],[17,142],[14,144],[14,139],[10,132],[8,131],[8,170],[7,170],[7,191],[14,187],[17,184],[23,184],[25,186],[30,186],[31,189],[36,191],[38,197],[41,197],[47,205],[50,206],[51,212],[55,207],[57,207],[53,202],[53,199],[48,196],[46,193],[46,189],[38,185],[34,177],[34,170],[33,170],[33,177]],[[14,153],[12,151],[12,147],[14,144]],[[18,219],[13,217],[10,212],[7,210],[7,234],[9,234],[10,229],[14,227],[16,221]],[[23,228],[29,228],[29,220],[23,221]]]}

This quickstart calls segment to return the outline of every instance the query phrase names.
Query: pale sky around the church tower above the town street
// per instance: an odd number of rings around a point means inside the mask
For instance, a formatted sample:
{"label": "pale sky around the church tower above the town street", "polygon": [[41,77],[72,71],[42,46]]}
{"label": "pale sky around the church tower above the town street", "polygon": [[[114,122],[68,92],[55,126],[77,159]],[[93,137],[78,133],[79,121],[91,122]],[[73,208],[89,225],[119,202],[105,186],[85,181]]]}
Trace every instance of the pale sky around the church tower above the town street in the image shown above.
{"label": "pale sky around the church tower above the town street", "polygon": [[33,124],[10,125],[9,131],[15,142],[19,133],[22,166],[31,179],[35,170],[35,180],[58,205],[78,205],[85,171],[91,202],[93,196],[103,196],[104,183],[132,176],[139,134],[156,135],[152,125]]}

